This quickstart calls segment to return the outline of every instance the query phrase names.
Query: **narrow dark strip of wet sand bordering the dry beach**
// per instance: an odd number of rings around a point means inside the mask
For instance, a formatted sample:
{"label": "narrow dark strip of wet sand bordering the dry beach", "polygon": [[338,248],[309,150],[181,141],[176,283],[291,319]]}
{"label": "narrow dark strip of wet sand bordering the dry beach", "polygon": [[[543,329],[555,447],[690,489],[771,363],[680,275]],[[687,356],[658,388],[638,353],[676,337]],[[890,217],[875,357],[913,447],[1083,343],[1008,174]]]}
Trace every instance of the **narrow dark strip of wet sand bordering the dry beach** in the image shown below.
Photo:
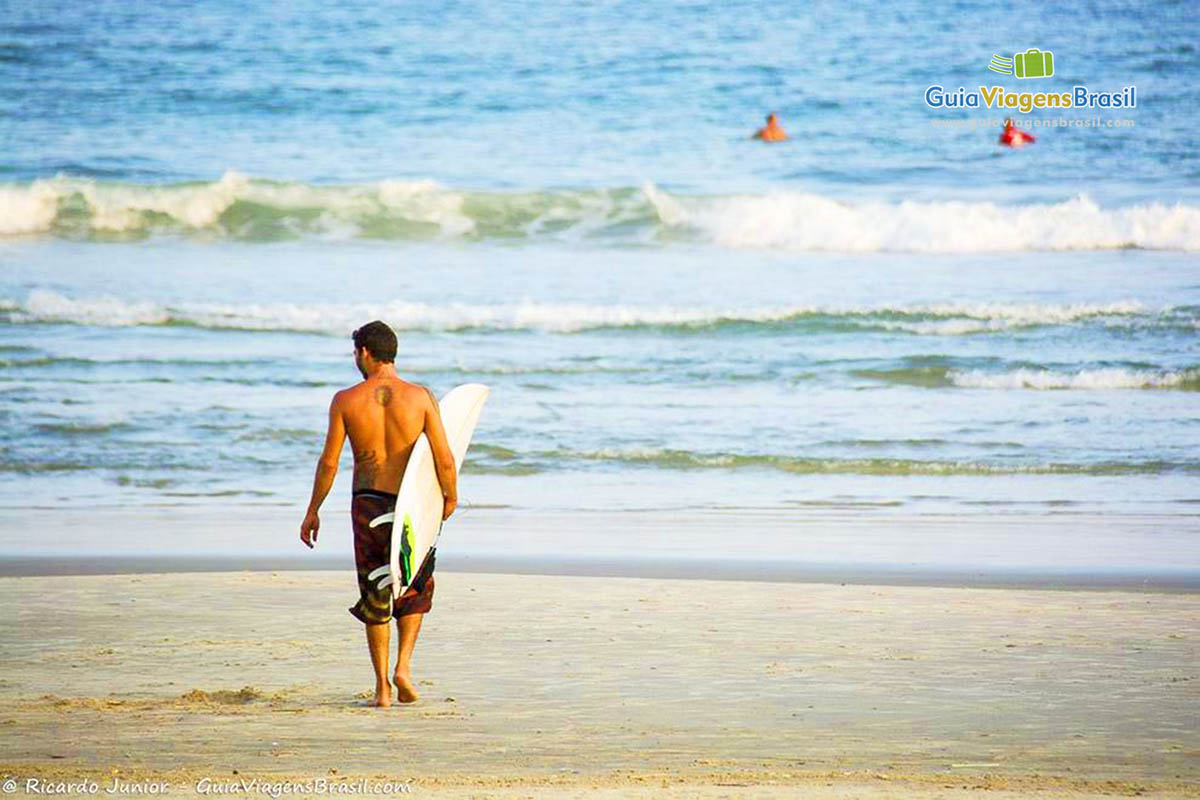
{"label": "narrow dark strip of wet sand bordering the dry beach", "polygon": [[[62,555],[0,554],[0,578],[50,576],[174,575],[194,572],[336,572],[352,573],[342,555]],[[1022,589],[1063,591],[1200,593],[1200,567],[1177,570],[1008,567],[989,565],[821,564],[804,561],[718,560],[700,558],[514,557],[438,553],[444,572],[725,581],[862,587],[947,589]]]}

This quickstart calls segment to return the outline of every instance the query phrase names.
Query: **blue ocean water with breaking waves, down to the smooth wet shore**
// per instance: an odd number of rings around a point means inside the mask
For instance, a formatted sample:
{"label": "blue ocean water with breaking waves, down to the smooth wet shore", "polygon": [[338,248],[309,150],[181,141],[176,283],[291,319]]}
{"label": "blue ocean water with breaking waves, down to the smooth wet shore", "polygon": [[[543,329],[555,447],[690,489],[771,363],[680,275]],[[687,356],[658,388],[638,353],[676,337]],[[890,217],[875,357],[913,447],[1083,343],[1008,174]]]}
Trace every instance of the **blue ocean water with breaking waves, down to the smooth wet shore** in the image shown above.
{"label": "blue ocean water with breaking waves, down to the smooth wet shore", "polygon": [[[492,386],[476,507],[1190,521],[1198,19],[0,4],[0,513],[299,524],[379,318],[402,375]],[[1030,47],[1055,77],[988,71]],[[931,84],[1138,106],[1007,112],[1132,122],[1007,151]]]}

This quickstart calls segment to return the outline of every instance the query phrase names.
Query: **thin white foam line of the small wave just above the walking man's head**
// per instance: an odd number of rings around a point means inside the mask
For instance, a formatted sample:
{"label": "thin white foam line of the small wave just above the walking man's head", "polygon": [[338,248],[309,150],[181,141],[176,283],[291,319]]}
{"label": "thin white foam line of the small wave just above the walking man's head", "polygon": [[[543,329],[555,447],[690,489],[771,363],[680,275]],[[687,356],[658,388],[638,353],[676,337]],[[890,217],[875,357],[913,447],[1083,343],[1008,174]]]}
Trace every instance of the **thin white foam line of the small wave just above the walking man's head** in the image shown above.
{"label": "thin white foam line of the small wave just above the walking man's head", "polygon": [[707,327],[718,324],[786,324],[835,320],[870,330],[955,336],[1032,325],[1066,325],[1087,319],[1153,324],[1171,309],[1134,300],[1094,305],[912,305],[780,306],[709,308],[521,302],[500,305],[380,303],[156,303],[114,296],[68,297],[36,289],[24,302],[0,301],[13,321],[61,321],[128,326],[168,323],[210,329],[290,330],[346,333],[362,319],[383,319],[403,331],[468,329],[538,330],[559,333],[605,327]]}

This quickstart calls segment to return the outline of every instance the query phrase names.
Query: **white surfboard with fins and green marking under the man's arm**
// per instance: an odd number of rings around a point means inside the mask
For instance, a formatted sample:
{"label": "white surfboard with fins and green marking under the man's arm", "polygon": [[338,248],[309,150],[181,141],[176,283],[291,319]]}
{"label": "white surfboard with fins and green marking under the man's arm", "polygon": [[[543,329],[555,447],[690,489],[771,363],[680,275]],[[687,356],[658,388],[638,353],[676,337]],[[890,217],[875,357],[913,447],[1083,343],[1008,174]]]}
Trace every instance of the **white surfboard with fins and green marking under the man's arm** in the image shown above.
{"label": "white surfboard with fins and green marking under the man's arm", "polygon": [[[456,470],[462,467],[479,414],[491,391],[484,384],[463,384],[451,389],[438,403]],[[437,545],[442,533],[442,486],[433,469],[433,451],[422,433],[413,445],[404,477],[400,481],[396,510],[370,523],[372,528],[392,523],[391,560],[367,576],[377,581],[376,585],[380,589],[390,585],[392,599],[403,594],[421,571],[430,549]]]}

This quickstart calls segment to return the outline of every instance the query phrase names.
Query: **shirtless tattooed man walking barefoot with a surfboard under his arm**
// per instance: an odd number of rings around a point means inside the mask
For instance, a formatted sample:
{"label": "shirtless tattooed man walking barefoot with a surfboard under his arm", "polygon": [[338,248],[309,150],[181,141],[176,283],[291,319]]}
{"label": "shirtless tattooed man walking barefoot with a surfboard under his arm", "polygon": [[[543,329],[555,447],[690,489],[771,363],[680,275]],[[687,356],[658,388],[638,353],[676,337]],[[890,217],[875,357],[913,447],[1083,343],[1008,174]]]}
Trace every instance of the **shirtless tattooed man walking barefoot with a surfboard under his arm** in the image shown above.
{"label": "shirtless tattooed man walking barefoot with a surfboard under his arm", "polygon": [[458,505],[457,475],[433,392],[401,380],[396,374],[396,335],[392,330],[376,320],[354,331],[353,338],[354,365],[364,380],[334,395],[329,407],[325,450],[317,462],[312,500],[300,524],[300,541],[310,548],[317,542],[320,528],[317,512],[334,485],[342,443],[349,435],[354,450],[350,521],[359,573],[359,602],[350,608],[350,613],[366,625],[367,649],[376,673],[374,704],[388,708],[392,699],[388,684],[388,625],[391,618],[396,619],[400,634],[400,652],[392,674],[396,699],[414,703],[418,698],[409,662],[421,619],[433,603],[433,551],[430,551],[412,585],[392,603],[391,587],[379,589],[377,581],[367,578],[373,570],[389,563],[391,525],[371,528],[370,522],[394,509],[408,456],[422,433],[428,437],[442,486],[443,519]]}

